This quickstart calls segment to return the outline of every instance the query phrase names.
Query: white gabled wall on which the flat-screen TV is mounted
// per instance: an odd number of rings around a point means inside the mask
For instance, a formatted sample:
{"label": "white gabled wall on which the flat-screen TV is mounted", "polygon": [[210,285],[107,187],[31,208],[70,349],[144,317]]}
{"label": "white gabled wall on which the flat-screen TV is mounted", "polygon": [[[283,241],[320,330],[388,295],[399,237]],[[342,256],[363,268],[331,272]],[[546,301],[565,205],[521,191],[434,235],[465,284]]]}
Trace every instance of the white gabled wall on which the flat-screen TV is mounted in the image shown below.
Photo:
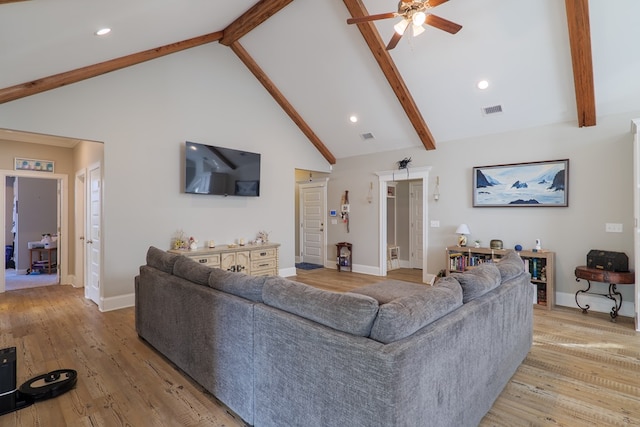
{"label": "white gabled wall on which the flat-screen TV is mounted", "polygon": [[[103,298],[132,303],[149,245],[270,231],[294,267],[295,168],[329,165],[226,47],[210,44],[0,105],[0,127],[104,143]],[[262,154],[261,196],[182,193],[184,141]],[[108,304],[107,304],[108,305]]]}

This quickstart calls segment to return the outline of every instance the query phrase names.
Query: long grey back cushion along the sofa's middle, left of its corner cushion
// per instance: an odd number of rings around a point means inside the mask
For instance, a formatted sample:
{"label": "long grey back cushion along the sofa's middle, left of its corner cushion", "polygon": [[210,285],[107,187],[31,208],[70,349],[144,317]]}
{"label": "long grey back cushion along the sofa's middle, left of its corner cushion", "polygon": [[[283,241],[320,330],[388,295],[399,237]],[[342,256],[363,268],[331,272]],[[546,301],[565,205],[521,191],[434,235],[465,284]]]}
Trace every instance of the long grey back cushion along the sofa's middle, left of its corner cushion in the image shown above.
{"label": "long grey back cushion along the sofa's middle, left of its corner cushion", "polygon": [[353,335],[366,337],[378,313],[378,301],[365,295],[314,288],[282,277],[269,277],[262,289],[265,304]]}

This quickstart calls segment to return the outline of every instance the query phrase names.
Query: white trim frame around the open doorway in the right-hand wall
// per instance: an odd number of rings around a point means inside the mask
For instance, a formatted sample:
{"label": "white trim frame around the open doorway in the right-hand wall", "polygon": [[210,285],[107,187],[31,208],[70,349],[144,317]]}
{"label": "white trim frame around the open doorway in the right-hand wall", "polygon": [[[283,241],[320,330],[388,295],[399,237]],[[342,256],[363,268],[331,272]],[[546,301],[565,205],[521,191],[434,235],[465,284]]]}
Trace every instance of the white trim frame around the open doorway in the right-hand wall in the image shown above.
{"label": "white trim frame around the open doorway in the right-hand wall", "polygon": [[[387,194],[389,184],[397,181],[415,181],[414,189],[416,192],[420,192],[421,194],[416,194],[418,200],[422,200],[422,212],[417,211],[415,216],[416,221],[419,221],[423,226],[420,227],[422,230],[417,231],[416,245],[418,247],[414,248],[416,253],[422,252],[422,255],[419,256],[421,259],[416,259],[416,264],[420,265],[422,268],[422,281],[425,283],[432,282],[432,274],[427,272],[427,245],[428,245],[428,228],[424,227],[424,224],[427,223],[428,217],[428,197],[427,197],[427,188],[429,182],[429,171],[431,170],[430,166],[427,167],[419,167],[419,168],[410,168],[406,170],[393,170],[393,171],[382,171],[377,172],[378,181],[379,181],[379,197],[380,200],[380,212],[379,212],[379,232],[378,232],[378,242],[379,242],[379,261],[378,265],[380,266],[380,275],[387,275]],[[414,232],[412,231],[412,234]]]}

